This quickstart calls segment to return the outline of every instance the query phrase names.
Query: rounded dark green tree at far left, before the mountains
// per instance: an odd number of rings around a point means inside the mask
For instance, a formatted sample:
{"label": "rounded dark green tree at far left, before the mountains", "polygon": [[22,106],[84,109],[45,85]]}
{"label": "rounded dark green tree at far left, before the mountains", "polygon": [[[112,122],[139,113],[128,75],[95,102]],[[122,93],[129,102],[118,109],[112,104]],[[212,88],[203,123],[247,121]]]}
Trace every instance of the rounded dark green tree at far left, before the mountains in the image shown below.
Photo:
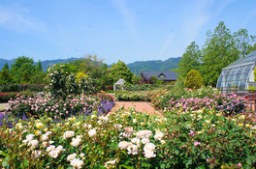
{"label": "rounded dark green tree at far left, before the mountains", "polygon": [[11,68],[11,74],[14,77],[14,81],[18,84],[29,83],[34,72],[35,66],[33,59],[25,56],[18,57]]}

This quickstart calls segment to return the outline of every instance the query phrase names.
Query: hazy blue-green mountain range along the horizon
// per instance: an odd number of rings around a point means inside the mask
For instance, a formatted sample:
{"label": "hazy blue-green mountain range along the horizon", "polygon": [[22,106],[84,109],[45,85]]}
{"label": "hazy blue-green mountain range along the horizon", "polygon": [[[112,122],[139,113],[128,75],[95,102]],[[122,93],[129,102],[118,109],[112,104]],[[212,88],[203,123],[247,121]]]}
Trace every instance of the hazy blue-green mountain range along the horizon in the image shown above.
{"label": "hazy blue-green mountain range along the horizon", "polygon": [[[80,59],[81,58],[55,59],[55,60],[41,61],[41,63],[42,63],[43,70],[46,71],[48,67],[54,64],[69,63],[69,62],[80,60]],[[134,63],[127,64],[127,67],[135,74],[140,74],[144,70],[152,70],[152,71],[175,70],[177,68],[177,64],[179,60],[180,60],[180,57],[169,58],[165,61],[161,61],[161,60],[137,61]],[[9,68],[11,68],[11,66],[15,63],[15,59],[12,59],[12,60],[0,59],[0,70],[2,70],[2,68],[6,63],[9,65]]]}

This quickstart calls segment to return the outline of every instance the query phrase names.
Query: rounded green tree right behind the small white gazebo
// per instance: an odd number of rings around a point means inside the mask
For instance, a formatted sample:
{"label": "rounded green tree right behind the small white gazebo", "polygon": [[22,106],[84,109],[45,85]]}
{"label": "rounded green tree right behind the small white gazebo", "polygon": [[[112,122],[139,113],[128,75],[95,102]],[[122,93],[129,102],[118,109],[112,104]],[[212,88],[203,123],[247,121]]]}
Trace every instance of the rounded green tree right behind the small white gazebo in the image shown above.
{"label": "rounded green tree right behind the small white gazebo", "polygon": [[133,79],[132,71],[120,60],[116,64],[112,64],[107,76],[111,85],[120,78],[123,78],[128,83],[132,83]]}

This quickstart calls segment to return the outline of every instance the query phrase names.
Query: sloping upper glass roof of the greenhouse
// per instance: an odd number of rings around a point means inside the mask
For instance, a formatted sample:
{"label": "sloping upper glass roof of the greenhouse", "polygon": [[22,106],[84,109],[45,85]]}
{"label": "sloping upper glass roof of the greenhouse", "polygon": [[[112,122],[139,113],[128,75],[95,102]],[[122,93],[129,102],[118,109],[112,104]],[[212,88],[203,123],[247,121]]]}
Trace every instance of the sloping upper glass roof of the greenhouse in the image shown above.
{"label": "sloping upper glass roof of the greenhouse", "polygon": [[236,62],[233,62],[232,64],[230,64],[227,68],[225,68],[223,70],[231,69],[234,67],[239,67],[242,65],[255,64],[255,62],[256,62],[256,50],[253,52],[250,52],[246,57],[241,58]]}

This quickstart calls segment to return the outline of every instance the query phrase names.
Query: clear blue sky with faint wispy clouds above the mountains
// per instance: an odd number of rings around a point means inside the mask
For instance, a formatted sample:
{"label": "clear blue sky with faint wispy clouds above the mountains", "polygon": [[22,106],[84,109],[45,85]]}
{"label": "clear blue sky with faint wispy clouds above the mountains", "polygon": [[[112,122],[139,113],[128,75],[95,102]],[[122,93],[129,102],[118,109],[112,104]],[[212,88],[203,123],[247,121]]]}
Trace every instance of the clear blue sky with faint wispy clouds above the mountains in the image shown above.
{"label": "clear blue sky with faint wispy clouds above the mountains", "polygon": [[166,60],[202,47],[219,21],[256,35],[256,1],[0,0],[0,58]]}

